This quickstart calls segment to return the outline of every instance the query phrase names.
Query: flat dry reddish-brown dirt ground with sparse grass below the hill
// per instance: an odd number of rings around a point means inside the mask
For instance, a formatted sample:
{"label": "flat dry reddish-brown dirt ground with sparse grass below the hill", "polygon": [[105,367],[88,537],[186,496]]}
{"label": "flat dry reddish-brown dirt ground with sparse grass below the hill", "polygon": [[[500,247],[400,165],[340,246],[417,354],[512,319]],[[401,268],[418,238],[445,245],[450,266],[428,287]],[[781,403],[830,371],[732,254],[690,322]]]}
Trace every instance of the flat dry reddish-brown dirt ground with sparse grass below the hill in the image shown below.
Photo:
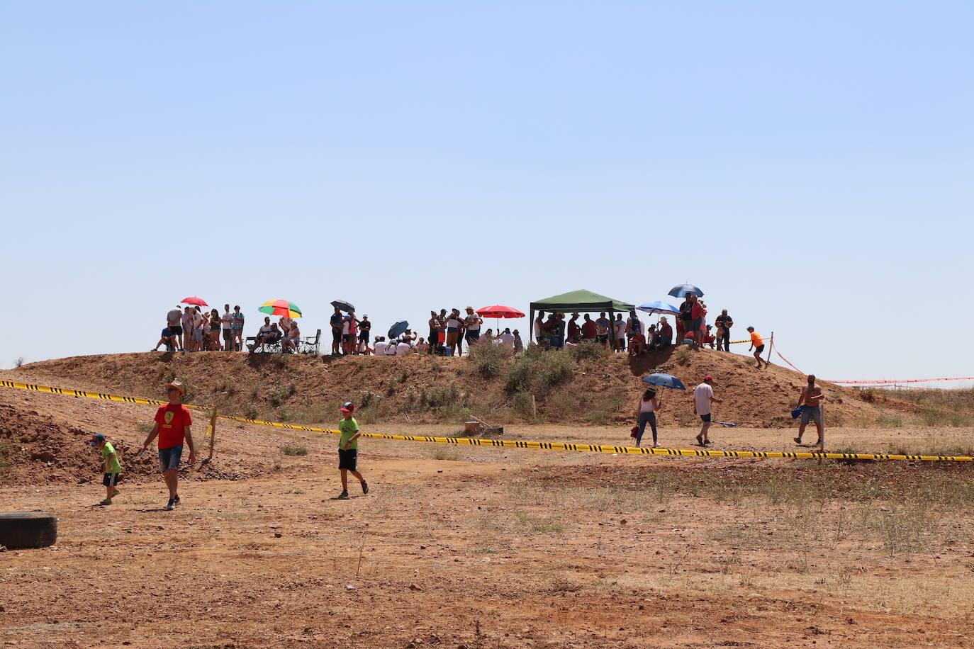
{"label": "flat dry reddish-brown dirt ground with sparse grass below the hill", "polygon": [[[4,646],[974,646],[969,466],[364,440],[372,490],[340,501],[335,437],[221,422],[213,462],[185,472],[183,504],[166,512],[151,464],[128,457],[122,495],[93,506],[103,487],[87,435],[131,450],[152,407],[7,389],[0,404],[68,436],[55,479],[18,461],[0,487],[0,510],[59,518],[55,547],[0,553]],[[626,433],[506,427],[605,444]],[[660,433],[689,448],[695,430],[664,419]],[[793,449],[789,433],[713,438]],[[861,451],[961,448],[974,430],[829,436]]]}

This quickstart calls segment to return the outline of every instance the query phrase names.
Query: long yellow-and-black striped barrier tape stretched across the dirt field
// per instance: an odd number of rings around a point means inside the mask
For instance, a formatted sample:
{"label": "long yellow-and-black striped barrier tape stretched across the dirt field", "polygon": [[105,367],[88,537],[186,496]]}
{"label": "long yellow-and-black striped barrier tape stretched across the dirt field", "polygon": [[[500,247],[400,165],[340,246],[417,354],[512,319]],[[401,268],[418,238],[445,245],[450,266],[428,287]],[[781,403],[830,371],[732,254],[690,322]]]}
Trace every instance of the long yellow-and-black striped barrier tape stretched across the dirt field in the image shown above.
{"label": "long yellow-and-black striped barrier tape stretched across the dirt field", "polygon": [[[0,380],[0,386],[13,387],[20,390],[32,390],[35,392],[48,392],[51,394],[62,394],[73,397],[87,397],[90,399],[103,399],[106,401],[118,401],[131,404],[146,404],[151,406],[164,406],[169,402],[157,401],[154,399],[139,399],[137,397],[123,397],[114,394],[104,394],[100,392],[85,392],[84,390],[71,390],[61,387],[51,387],[49,385],[35,385],[31,383],[19,383],[12,380]],[[196,410],[209,410],[200,406],[188,406]],[[311,433],[330,433],[340,434],[337,430],[328,428],[315,428],[312,426],[299,426],[291,423],[281,423],[278,421],[262,421],[260,419],[248,419],[243,416],[217,415],[223,419],[241,421],[244,423],[254,423],[262,426],[274,426],[276,428],[286,428],[288,430],[303,430]],[[650,449],[643,447],[622,447],[606,446],[599,444],[567,444],[564,442],[528,442],[523,440],[495,440],[481,439],[477,437],[425,437],[416,435],[391,435],[387,433],[361,433],[361,437],[376,440],[399,440],[403,442],[429,442],[431,444],[453,444],[456,446],[468,447],[496,447],[505,449],[529,449],[533,451],[576,451],[576,452],[601,452],[617,454],[637,454],[637,455],[675,455],[679,457],[761,457],[761,458],[783,458],[783,459],[866,459],[866,460],[911,460],[911,461],[949,461],[949,462],[974,462],[974,457],[969,455],[899,455],[894,453],[839,453],[839,452],[814,452],[814,451],[711,451],[709,449]]]}

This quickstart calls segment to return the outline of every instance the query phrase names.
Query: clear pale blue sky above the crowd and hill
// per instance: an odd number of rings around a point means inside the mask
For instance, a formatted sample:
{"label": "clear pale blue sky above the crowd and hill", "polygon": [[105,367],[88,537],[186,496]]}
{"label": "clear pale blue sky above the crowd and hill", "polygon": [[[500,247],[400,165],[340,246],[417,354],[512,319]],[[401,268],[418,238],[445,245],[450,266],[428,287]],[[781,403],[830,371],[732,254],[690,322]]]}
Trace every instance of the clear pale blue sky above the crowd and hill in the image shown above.
{"label": "clear pale blue sky above the crowd and hill", "polygon": [[971,374],[972,31],[963,2],[0,3],[0,365],[147,350],[191,294],[307,333],[337,297],[382,328],[690,280],[820,377]]}

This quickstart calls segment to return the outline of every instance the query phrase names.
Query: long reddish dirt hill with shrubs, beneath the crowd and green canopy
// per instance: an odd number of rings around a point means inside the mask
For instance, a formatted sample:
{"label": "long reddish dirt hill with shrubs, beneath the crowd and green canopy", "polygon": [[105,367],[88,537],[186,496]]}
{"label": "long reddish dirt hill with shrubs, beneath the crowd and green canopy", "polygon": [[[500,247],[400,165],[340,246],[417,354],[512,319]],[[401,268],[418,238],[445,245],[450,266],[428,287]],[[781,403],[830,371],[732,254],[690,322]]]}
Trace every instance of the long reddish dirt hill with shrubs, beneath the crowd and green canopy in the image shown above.
{"label": "long reddish dirt hill with shrubs, beneath the crowd and green canopy", "polygon": [[[725,399],[719,407],[722,420],[780,426],[791,421],[788,412],[805,383],[791,370],[757,370],[743,356],[710,349],[638,362],[621,354],[549,352],[517,362],[501,359],[493,372],[483,365],[468,357],[131,353],[42,361],[23,366],[18,374],[57,386],[157,399],[163,398],[163,383],[180,379],[188,386],[187,403],[216,404],[228,415],[309,423],[331,421],[338,405],[350,400],[368,422],[459,423],[471,413],[501,423],[621,422],[631,418],[645,387],[641,377],[659,370],[682,379],[689,389],[712,375],[717,396]],[[915,408],[889,399],[877,402],[872,394],[832,384],[824,387],[832,425],[875,425],[889,409]],[[689,391],[663,389],[661,396],[669,416],[693,423]]]}

